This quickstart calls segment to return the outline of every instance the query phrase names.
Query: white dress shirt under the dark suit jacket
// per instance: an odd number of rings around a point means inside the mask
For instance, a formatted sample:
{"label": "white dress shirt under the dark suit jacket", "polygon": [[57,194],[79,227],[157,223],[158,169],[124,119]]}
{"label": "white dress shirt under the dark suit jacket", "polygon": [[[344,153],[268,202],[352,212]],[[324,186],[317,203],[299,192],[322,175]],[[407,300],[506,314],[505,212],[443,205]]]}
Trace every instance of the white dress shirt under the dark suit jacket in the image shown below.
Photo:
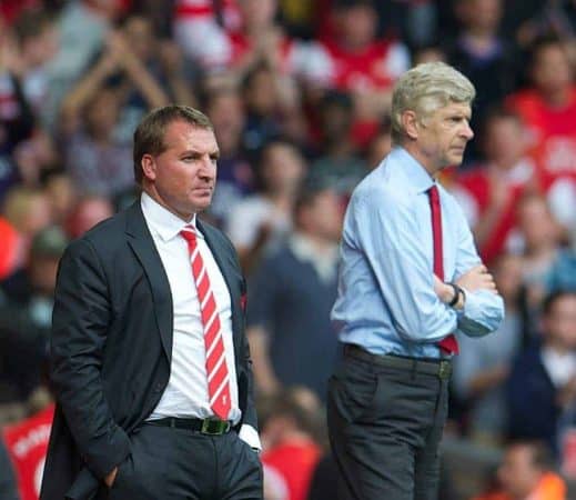
{"label": "white dress shirt under the dark suit jacket", "polygon": [[[213,417],[208,396],[204,329],[200,316],[200,302],[190,264],[188,243],[180,236],[180,231],[185,226],[195,228],[195,216],[190,222],[184,222],[146,193],[142,193],[141,207],[170,283],[174,329],[170,379],[149,420],[165,417],[199,419]],[[196,236],[220,316],[232,400],[229,420],[236,424],[242,412],[238,402],[230,292],[203,234],[196,231]],[[242,426],[240,438],[253,448],[261,448],[257,432],[251,426]]]}

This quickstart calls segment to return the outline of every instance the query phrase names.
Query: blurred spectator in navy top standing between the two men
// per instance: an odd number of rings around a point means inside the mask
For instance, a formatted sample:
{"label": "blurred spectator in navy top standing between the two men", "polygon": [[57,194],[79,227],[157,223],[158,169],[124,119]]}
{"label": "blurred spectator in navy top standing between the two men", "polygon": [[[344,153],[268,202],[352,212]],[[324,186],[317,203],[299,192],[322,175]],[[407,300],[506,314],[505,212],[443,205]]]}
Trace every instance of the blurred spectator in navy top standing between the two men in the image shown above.
{"label": "blurred spectator in navy top standing between the two men", "polygon": [[249,283],[247,336],[263,393],[304,386],[324,401],[337,356],[329,312],[336,297],[342,210],[327,189],[304,189],[294,231],[254,270]]}

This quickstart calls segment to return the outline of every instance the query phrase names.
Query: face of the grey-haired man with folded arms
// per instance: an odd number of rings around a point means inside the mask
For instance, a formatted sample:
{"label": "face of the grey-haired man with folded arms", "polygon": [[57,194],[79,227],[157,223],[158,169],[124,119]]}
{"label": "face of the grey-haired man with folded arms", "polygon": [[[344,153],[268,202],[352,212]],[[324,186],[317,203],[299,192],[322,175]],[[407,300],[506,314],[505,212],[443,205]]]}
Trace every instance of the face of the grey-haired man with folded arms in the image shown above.
{"label": "face of the grey-haired man with folded arms", "polygon": [[466,143],[474,137],[471,116],[469,104],[452,102],[421,120],[414,146],[430,173],[462,163]]}

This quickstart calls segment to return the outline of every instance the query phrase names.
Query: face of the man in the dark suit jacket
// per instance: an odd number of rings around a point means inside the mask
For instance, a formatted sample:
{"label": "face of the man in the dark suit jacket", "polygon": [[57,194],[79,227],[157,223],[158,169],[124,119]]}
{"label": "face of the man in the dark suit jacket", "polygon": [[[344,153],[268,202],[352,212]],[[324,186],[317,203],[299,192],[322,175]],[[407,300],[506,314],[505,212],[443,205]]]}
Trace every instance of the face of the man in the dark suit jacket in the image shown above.
{"label": "face of the man in the dark suit jacket", "polygon": [[212,201],[219,148],[214,132],[179,120],[164,134],[165,150],[142,158],[144,190],[172,213],[189,221]]}

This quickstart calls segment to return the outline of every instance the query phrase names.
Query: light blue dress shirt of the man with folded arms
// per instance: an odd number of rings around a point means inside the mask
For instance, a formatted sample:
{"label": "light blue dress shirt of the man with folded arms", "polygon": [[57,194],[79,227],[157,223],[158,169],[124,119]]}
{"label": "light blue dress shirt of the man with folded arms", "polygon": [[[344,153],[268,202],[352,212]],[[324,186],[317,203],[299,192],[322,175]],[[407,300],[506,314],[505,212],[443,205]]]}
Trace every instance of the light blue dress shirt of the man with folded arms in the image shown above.
{"label": "light blue dress shirt of the man with folded arms", "polygon": [[[375,354],[439,358],[436,346],[461,331],[478,337],[504,318],[499,296],[466,293],[463,311],[434,292],[432,214],[434,179],[403,148],[394,148],[354,190],[341,243],[338,294],[332,320],[340,340]],[[456,200],[438,184],[444,280],[454,281],[481,259]]]}

